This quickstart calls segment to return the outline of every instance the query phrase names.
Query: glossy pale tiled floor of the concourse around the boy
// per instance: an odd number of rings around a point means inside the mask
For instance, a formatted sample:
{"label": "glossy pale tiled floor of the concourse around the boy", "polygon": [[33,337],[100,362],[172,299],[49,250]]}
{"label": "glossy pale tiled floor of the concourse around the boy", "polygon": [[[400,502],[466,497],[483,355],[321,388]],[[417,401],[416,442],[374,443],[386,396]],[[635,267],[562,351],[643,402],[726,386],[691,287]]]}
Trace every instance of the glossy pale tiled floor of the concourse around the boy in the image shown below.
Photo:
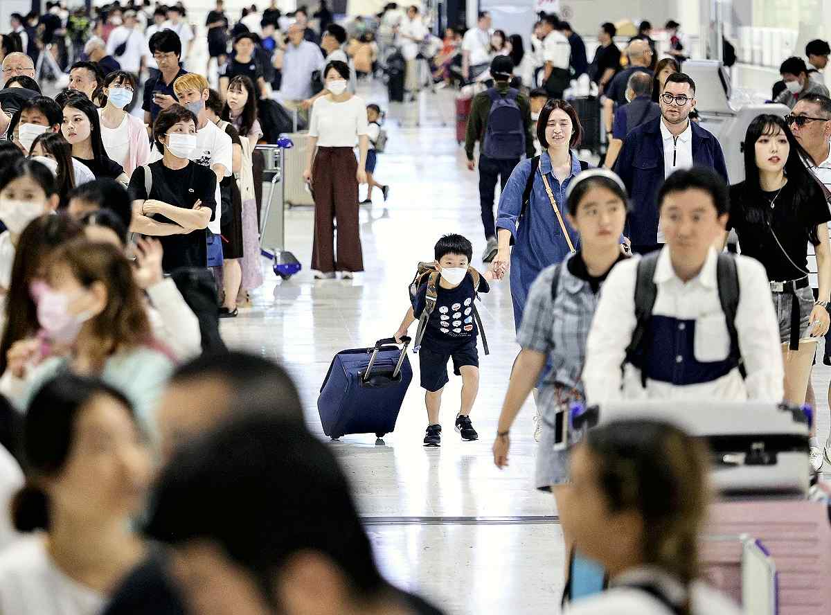
{"label": "glossy pale tiled floor of the concourse around the boy", "polygon": [[[361,86],[360,93],[367,102],[386,100],[377,86]],[[278,359],[296,376],[308,425],[321,437],[315,402],[332,356],[396,331],[409,307],[407,284],[416,263],[432,258],[436,239],[465,234],[475,246],[474,264],[481,266],[478,174],[465,168],[455,142],[452,94],[423,94],[417,105],[389,111],[390,140],[387,152],[379,155],[376,179],[391,185],[390,200],[384,204],[376,191],[371,208],[361,209],[366,273],[348,282],[314,281],[308,269],[312,210],[291,209],[287,247],[302,261],[303,271],[278,283],[266,269],[267,282],[254,294],[254,307],[223,323],[230,346]],[[463,443],[452,429],[460,393],[455,378],[445,389],[444,443],[440,449],[422,447],[426,415],[414,365],[414,382],[386,443],[376,445],[374,435],[353,435],[332,447],[352,479],[361,514],[371,522],[367,529],[378,560],[391,580],[453,614],[556,613],[563,546],[553,519],[540,519],[556,514],[553,499],[533,490],[531,406],[514,429],[510,467],[497,470],[490,455],[518,352],[508,284],[494,284],[483,298],[480,311],[491,354],[481,357],[472,415],[481,440]],[[829,423],[824,400],[829,372],[820,366],[814,375],[817,390],[823,391],[823,436]],[[464,519],[424,524],[412,523],[412,517]]]}

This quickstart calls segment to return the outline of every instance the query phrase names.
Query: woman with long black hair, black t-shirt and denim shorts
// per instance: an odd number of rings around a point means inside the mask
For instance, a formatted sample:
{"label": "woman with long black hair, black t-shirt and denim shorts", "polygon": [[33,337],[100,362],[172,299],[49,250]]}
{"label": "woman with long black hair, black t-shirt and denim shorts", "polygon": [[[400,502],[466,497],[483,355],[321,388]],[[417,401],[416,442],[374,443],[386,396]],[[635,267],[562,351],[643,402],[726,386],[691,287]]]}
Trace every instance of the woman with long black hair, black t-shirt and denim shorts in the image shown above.
{"label": "woman with long black hair, black t-shirt and denim shorts", "polygon": [[[815,341],[800,343],[800,339],[829,330],[831,294],[831,213],[804,160],[805,151],[781,117],[761,115],[750,122],[745,135],[745,181],[730,186],[727,223],[727,230],[738,234],[742,253],[765,265],[779,312],[784,396],[797,405],[805,400],[816,349]],[[809,284],[809,241],[819,269],[816,301]]]}

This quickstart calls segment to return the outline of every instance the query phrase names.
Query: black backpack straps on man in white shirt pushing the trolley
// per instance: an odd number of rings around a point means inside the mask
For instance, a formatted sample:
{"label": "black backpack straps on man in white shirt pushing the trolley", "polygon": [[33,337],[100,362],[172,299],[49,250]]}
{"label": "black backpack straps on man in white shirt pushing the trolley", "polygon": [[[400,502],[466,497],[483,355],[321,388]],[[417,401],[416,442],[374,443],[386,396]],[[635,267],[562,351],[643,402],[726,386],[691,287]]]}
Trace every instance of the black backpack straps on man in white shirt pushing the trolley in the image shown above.
{"label": "black backpack straps on man in white shirt pushing the trolley", "polygon": [[[652,318],[652,307],[658,289],[653,278],[661,252],[652,252],[641,258],[637,263],[635,278],[635,318],[637,325],[632,332],[632,341],[626,349],[625,363],[637,365],[638,357],[644,357],[647,352],[646,334],[649,321]],[[739,347],[739,334],[735,329],[735,312],[739,307],[739,272],[736,269],[735,256],[730,253],[720,253],[716,264],[716,280],[719,287],[719,302],[725,314],[727,332],[730,334],[730,354],[728,359],[739,368],[742,378],[747,376],[745,364]],[[641,369],[641,384],[647,386],[647,373]]]}

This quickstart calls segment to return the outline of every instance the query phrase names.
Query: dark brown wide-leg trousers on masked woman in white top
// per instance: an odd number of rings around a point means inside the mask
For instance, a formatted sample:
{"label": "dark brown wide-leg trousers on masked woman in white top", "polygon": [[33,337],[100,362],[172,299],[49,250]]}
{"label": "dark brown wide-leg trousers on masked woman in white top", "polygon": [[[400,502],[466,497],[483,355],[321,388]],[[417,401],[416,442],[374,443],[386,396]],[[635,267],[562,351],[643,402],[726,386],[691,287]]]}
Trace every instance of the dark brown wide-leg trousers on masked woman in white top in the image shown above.
{"label": "dark brown wide-leg trousers on masked woman in white top", "polygon": [[[363,271],[358,228],[358,161],[351,147],[320,147],[312,165],[314,244],[312,269]],[[337,258],[334,221],[337,219]]]}

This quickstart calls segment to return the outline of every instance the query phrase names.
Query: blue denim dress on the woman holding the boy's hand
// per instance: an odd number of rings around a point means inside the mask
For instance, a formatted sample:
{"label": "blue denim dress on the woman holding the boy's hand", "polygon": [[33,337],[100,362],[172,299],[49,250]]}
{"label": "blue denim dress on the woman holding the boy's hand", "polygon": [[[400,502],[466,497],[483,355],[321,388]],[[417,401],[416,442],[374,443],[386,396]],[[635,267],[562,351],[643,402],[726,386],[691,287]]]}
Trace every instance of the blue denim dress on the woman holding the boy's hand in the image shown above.
{"label": "blue denim dress on the woman holding the boy's hand", "polygon": [[539,173],[534,178],[529,208],[525,212],[524,219],[519,220],[519,213],[522,211],[525,184],[531,172],[531,160],[523,160],[514,167],[514,172],[511,173],[508,184],[505,185],[502,196],[499,198],[496,228],[507,229],[514,237],[510,283],[511,297],[514,301],[514,326],[518,331],[531,284],[534,283],[539,272],[549,265],[559,263],[570,252],[557,214],[554,214],[551,201],[546,194],[541,174],[548,176],[548,185],[551,186],[554,199],[563,216],[563,224],[568,230],[574,248],[580,248],[580,236],[566,219],[566,189],[573,178],[580,173],[580,160],[574,150],[571,152],[571,159],[571,175],[568,175],[566,180],[560,184],[551,172],[551,158],[548,157],[548,152],[543,152],[539,158]]}

